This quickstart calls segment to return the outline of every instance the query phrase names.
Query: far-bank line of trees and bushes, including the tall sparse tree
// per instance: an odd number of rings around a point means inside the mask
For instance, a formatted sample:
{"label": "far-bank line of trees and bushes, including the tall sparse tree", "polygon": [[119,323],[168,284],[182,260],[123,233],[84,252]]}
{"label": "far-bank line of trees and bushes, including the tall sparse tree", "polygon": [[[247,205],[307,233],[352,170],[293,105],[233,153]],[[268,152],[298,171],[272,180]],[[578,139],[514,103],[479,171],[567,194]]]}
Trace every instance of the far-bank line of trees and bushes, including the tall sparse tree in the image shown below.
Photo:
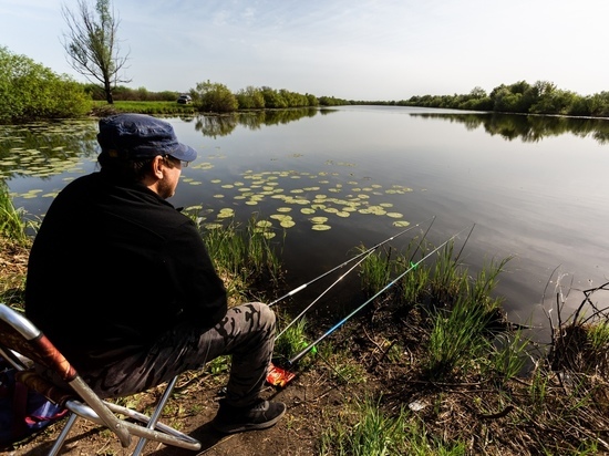
{"label": "far-bank line of trees and bushes, including the tall sparse tree", "polygon": [[[90,2],[92,4],[90,4]],[[131,80],[121,73],[128,53],[118,48],[120,20],[111,0],[78,0],[73,9],[62,6],[68,24],[63,48],[71,66],[90,83],[81,84],[68,75],[24,55],[12,54],[0,46],[0,123],[25,122],[39,118],[73,117],[91,110],[91,101],[176,101],[175,91],[148,92],[120,86]],[[443,107],[520,114],[556,114],[572,116],[609,116],[609,92],[581,96],[558,89],[548,81],[529,84],[518,81],[500,84],[491,93],[479,86],[467,94],[422,95],[402,101],[347,101],[333,96],[297,93],[286,89],[247,86],[231,92],[218,82],[205,81],[189,90],[193,107],[198,112],[229,113],[242,110],[275,110],[348,104]]]}

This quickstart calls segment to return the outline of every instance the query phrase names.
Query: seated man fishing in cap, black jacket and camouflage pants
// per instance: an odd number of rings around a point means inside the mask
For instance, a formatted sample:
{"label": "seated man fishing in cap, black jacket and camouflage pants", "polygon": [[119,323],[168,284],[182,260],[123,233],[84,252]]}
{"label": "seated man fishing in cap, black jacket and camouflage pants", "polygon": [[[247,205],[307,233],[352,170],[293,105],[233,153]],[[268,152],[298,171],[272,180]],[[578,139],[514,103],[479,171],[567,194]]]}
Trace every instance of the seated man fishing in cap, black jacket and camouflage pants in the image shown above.
{"label": "seated man fishing in cap, black jacket and camouflage pants", "polygon": [[286,405],[260,393],[276,315],[260,302],[227,308],[196,225],[166,201],[196,151],[148,115],[117,114],[99,127],[100,169],[56,196],[34,239],[28,318],[101,397],[138,393],[231,355],[213,426],[272,426]]}

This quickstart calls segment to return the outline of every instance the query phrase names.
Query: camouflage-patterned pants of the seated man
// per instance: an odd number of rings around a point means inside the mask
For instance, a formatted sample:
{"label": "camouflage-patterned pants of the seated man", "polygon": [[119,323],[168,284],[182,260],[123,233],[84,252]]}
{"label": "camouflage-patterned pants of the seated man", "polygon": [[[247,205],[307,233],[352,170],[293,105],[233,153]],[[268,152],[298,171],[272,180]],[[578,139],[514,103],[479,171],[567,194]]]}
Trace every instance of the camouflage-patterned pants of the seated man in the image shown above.
{"label": "camouflage-patterned pants of the seated man", "polygon": [[230,308],[214,328],[202,332],[195,322],[177,325],[146,353],[93,372],[81,372],[102,397],[138,393],[185,371],[200,370],[208,361],[231,355],[227,402],[251,404],[262,390],[275,345],[275,312],[250,302]]}

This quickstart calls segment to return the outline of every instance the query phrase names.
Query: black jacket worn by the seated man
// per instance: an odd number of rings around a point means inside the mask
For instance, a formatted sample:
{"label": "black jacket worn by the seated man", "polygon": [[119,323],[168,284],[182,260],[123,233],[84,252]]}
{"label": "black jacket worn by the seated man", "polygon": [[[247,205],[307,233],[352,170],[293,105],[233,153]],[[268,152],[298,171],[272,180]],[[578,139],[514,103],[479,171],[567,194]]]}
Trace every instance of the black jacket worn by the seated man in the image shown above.
{"label": "black jacket worn by the seated man", "polygon": [[195,224],[143,185],[103,173],[69,184],[34,239],[27,315],[74,360],[100,366],[173,325],[215,325],[226,291]]}

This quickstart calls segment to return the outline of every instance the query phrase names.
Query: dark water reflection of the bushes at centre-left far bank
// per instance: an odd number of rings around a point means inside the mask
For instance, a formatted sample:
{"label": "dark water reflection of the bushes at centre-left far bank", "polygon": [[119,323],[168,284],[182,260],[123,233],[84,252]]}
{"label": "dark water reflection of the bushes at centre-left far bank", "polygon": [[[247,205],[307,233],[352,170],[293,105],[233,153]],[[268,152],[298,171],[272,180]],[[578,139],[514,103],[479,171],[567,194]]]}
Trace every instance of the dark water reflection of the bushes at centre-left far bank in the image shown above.
{"label": "dark water reflection of the bushes at centre-left far bank", "polygon": [[[279,125],[298,121],[302,117],[313,117],[320,111],[317,107],[297,107],[290,110],[247,111],[221,115],[198,115],[195,128],[204,136],[227,136],[237,127],[259,129],[264,125]],[[327,114],[327,112],[324,112]]]}

